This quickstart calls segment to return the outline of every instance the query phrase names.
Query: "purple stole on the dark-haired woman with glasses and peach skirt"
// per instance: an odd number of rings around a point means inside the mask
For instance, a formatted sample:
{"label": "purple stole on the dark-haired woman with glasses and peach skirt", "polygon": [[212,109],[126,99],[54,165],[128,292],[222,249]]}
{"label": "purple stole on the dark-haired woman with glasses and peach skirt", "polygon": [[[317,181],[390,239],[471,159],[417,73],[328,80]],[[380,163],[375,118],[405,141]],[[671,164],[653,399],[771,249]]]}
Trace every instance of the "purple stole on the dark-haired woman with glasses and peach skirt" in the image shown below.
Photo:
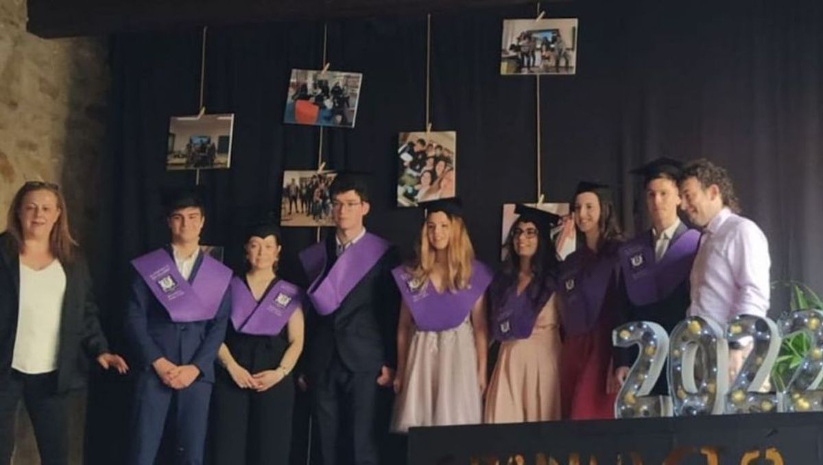
{"label": "purple stole on the dark-haired woman with glasses and peach skirt", "polygon": [[[532,335],[537,315],[555,292],[553,280],[546,277],[542,279],[545,283],[532,278],[532,282],[518,295],[516,279],[507,280],[503,274],[495,277],[495,284],[500,285],[492,284],[489,291],[491,337],[504,342],[528,339]],[[511,281],[509,286],[504,285],[504,280]],[[541,285],[545,287],[540,289]]]}

